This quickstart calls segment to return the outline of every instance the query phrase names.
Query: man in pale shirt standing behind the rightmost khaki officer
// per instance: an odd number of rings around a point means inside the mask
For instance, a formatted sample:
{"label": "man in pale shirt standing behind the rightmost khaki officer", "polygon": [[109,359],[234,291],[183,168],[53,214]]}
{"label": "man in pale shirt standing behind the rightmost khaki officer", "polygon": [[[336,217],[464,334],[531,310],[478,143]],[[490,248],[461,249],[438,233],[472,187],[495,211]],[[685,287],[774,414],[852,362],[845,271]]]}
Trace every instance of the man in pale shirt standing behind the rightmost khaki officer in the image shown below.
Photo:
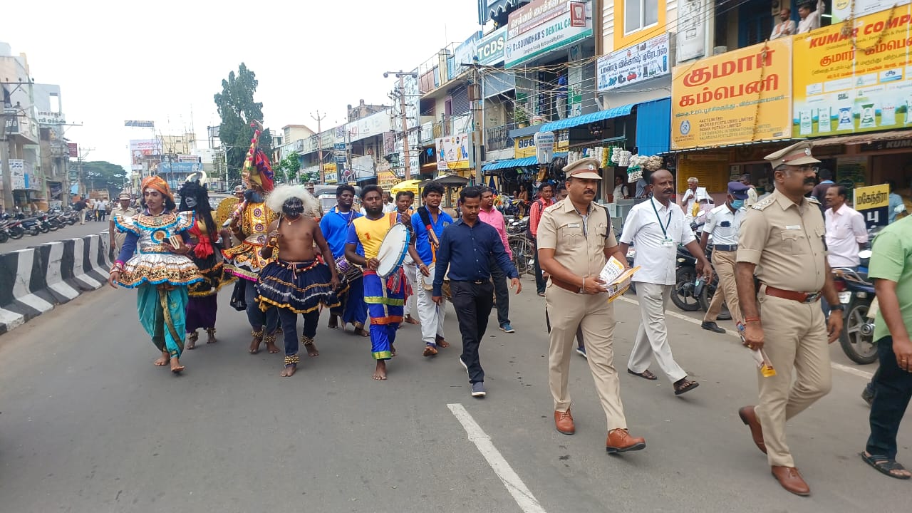
{"label": "man in pale shirt standing behind the rightmost khaki officer", "polygon": [[861,264],[858,250],[867,243],[865,216],[845,204],[847,194],[840,185],[826,190],[826,204],[830,206],[824,212],[826,261],[830,267],[858,267]]}

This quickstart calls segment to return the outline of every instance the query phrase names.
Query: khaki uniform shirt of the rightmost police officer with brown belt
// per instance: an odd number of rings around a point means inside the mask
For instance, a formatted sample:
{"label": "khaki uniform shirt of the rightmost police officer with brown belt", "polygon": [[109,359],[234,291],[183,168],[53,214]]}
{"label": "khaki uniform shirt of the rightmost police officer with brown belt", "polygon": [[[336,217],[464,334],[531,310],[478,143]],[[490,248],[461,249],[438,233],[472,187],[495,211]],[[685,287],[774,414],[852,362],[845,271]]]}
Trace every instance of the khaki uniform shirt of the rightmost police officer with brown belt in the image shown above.
{"label": "khaki uniform shirt of the rightmost police officer with brown belt", "polygon": [[778,190],[747,209],[738,239],[738,261],[757,266],[770,287],[818,292],[826,277],[824,216],[816,200],[801,204]]}

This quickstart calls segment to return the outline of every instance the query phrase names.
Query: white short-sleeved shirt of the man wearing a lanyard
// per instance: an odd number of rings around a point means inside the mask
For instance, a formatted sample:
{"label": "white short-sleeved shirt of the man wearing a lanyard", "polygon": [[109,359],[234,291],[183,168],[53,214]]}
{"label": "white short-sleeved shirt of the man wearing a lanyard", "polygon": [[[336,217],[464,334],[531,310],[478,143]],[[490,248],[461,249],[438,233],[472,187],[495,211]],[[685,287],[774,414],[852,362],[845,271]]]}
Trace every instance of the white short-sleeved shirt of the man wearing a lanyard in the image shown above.
{"label": "white short-sleeved shirt of the man wearing a lanyard", "polygon": [[[666,238],[671,239],[668,246],[663,245]],[[649,198],[630,209],[620,242],[633,243],[637,248],[634,266],[640,269],[633,275],[633,281],[674,285],[678,245],[695,240],[677,204],[668,202],[665,206],[656,198]]]}

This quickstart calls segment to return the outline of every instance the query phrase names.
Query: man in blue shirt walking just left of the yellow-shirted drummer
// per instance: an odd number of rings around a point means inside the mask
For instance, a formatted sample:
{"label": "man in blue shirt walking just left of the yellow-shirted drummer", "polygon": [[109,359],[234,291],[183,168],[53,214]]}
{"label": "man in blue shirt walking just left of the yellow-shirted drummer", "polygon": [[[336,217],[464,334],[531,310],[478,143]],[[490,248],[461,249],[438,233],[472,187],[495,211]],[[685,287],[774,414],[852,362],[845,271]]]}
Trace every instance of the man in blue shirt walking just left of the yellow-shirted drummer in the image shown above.
{"label": "man in blue shirt walking just left of the yellow-shirted drummer", "polygon": [[[356,334],[367,337],[368,331],[364,329],[364,323],[368,319],[368,309],[364,305],[364,280],[359,273],[346,273],[339,267],[341,262],[347,264],[344,257],[348,227],[361,216],[359,212],[355,212],[351,208],[355,202],[355,188],[351,185],[339,185],[336,188],[336,201],[336,206],[320,219],[320,230],[323,232],[326,244],[333,252],[333,257],[336,258],[339,278],[344,279],[348,284],[348,291],[339,296],[339,306],[329,310],[328,328],[336,329],[338,318],[341,317],[342,330],[345,330],[346,325],[351,322]],[[363,255],[364,251],[360,250],[358,254]],[[347,265],[351,267],[351,264]]]}

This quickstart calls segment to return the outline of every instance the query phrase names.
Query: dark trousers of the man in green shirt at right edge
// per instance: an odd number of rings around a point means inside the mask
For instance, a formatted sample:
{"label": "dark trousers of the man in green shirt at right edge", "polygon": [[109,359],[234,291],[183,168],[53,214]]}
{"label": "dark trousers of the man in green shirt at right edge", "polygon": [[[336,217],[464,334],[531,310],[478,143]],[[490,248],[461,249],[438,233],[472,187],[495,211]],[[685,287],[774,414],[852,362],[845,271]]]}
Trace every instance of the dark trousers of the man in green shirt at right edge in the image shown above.
{"label": "dark trousers of the man in green shirt at right edge", "polygon": [[868,454],[896,458],[896,433],[912,397],[912,372],[896,363],[893,337],[877,341],[880,368],[874,375],[874,402],[871,403],[871,436],[865,449]]}

